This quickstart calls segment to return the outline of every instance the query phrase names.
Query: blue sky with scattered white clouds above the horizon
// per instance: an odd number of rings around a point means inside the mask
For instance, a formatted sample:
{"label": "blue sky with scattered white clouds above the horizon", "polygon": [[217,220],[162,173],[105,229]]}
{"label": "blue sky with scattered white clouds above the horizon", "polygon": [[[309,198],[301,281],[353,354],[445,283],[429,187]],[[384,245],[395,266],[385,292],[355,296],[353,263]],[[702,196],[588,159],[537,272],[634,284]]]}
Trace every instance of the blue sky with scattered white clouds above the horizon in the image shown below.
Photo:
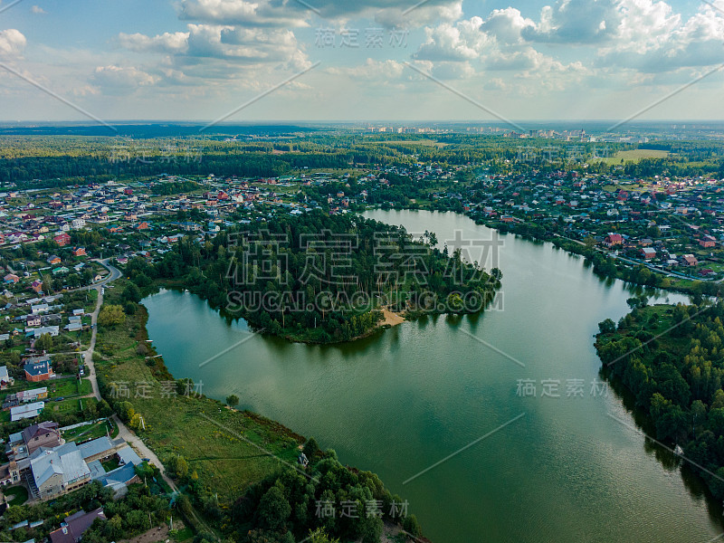
{"label": "blue sky with scattered white clouds above the horizon", "polygon": [[713,120],[723,64],[724,0],[0,0],[5,121]]}

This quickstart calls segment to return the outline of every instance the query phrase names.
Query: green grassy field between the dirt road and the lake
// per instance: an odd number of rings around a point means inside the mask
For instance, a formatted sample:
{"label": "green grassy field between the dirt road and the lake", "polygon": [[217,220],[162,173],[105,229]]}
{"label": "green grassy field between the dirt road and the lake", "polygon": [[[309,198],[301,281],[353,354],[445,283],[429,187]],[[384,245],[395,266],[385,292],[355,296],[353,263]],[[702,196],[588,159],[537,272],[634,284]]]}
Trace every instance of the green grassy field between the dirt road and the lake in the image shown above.
{"label": "green grassy field between the dirt road and the lake", "polygon": [[[106,303],[114,303],[123,290],[122,281],[116,285],[116,289],[106,291]],[[106,394],[111,401],[130,402],[143,416],[146,430],[139,435],[161,462],[172,454],[184,456],[190,470],[218,491],[219,500],[227,504],[273,472],[279,459],[296,462],[303,440],[281,424],[227,409],[209,398],[185,395],[184,390],[165,393],[162,382],[173,377],[161,358],[149,360],[152,366],[148,366],[137,352],[138,345],[148,338],[146,316],[145,308],[141,308],[127,317],[125,324],[99,330],[96,373],[101,388],[105,386],[107,391],[123,390],[121,384],[128,387],[128,396],[117,392],[114,399],[113,394]]]}

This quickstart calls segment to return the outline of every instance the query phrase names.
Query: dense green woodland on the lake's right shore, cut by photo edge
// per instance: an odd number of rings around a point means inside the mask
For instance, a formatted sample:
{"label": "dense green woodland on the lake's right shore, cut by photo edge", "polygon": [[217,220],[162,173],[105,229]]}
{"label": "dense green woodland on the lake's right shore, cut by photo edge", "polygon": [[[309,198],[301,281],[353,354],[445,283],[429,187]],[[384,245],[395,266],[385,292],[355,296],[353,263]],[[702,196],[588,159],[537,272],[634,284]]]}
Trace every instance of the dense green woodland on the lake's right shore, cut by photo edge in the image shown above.
{"label": "dense green woodland on the lake's right shore, cut by photo edge", "polygon": [[600,323],[596,349],[605,375],[633,393],[656,437],[679,444],[692,468],[724,499],[724,303],[646,307]]}

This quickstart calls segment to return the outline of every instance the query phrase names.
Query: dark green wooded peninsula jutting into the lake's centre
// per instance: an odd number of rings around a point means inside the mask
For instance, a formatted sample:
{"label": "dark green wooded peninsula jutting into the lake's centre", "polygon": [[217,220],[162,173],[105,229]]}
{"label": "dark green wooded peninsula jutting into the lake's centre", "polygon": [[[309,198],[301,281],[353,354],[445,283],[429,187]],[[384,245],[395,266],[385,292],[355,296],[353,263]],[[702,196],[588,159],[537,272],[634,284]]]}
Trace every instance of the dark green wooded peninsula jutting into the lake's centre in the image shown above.
{"label": "dark green wooded peninsula jutting into the lake's centre", "polygon": [[482,310],[500,270],[482,271],[461,252],[433,249],[433,233],[321,211],[240,224],[213,240],[185,238],[156,264],[129,262],[141,289],[187,288],[254,328],[329,343],[367,334],[379,309],[427,313]]}

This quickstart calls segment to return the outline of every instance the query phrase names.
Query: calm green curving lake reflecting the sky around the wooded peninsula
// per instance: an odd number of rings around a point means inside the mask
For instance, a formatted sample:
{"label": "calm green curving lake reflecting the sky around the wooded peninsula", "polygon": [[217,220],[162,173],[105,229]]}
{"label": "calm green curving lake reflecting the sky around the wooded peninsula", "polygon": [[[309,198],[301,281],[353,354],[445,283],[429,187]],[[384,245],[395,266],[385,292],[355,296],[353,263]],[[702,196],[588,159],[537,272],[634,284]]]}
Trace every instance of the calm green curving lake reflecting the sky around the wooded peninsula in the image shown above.
{"label": "calm green curving lake reflecting the sky around the wooded peninsula", "polygon": [[[456,232],[463,243],[493,239],[459,214],[366,216],[433,231],[441,245]],[[724,532],[700,482],[646,443],[624,400],[600,384],[597,324],[623,317],[633,291],[549,243],[500,241],[501,295],[477,316],[307,346],[250,337],[243,320],[162,291],[143,301],[149,337],[176,378],[218,399],[238,395],[379,474],[436,543],[706,543]],[[660,294],[652,302],[685,300]]]}

